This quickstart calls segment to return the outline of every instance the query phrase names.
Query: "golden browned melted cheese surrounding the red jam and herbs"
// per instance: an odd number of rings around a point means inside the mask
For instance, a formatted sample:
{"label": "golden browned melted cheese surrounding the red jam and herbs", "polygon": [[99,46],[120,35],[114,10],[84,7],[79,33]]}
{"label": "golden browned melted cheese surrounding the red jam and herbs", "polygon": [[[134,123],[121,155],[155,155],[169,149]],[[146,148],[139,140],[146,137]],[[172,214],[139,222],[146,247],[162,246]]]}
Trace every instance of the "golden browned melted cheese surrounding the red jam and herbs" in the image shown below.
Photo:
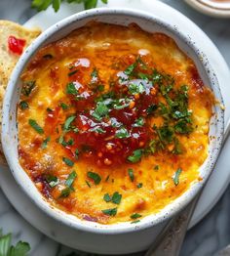
{"label": "golden browned melted cheese surrounding the red jam and herbs", "polygon": [[[73,166],[66,165],[62,158],[69,157],[69,154],[57,142],[61,132],[57,126],[63,124],[66,116],[72,113],[72,109],[58,107],[60,103],[70,105],[65,91],[70,79],[69,66],[74,64],[84,73],[80,81],[82,85],[89,84],[92,69],[96,66],[106,92],[110,88],[110,78],[116,77],[119,71],[113,64],[124,56],[127,60],[136,55],[147,62],[150,60],[158,70],[172,75],[176,87],[182,84],[189,87],[189,109],[193,113],[195,130],[187,136],[178,136],[184,148],[182,154],[174,155],[163,150],[142,157],[137,163],[126,162],[119,166],[96,165],[80,155]],[[192,60],[167,35],[150,34],[135,25],[123,27],[90,23],[40,50],[24,70],[21,79],[36,80],[36,87],[29,97],[21,95],[21,100],[26,101],[29,108],[18,110],[19,161],[38,190],[56,207],[102,224],[132,221],[132,214],[138,213],[144,217],[156,213],[186,192],[193,183],[199,182],[199,167],[208,155],[212,95],[203,85]],[[46,125],[48,107],[58,107],[57,118],[50,125]],[[28,119],[36,120],[44,128],[44,134],[38,134],[28,124]],[[159,125],[163,123],[163,118],[152,118],[150,122]],[[42,143],[49,136],[51,141],[46,149],[42,149]],[[129,168],[134,170],[134,181],[129,176]],[[182,172],[179,184],[175,186],[173,177],[178,168]],[[72,170],[77,173],[72,185],[74,190],[68,196],[60,197]],[[96,185],[88,177],[89,171],[101,177],[99,184]],[[50,188],[41,178],[47,173],[58,177],[58,185],[54,188]],[[141,188],[137,188],[139,184],[142,184]],[[103,200],[105,193],[111,195],[114,192],[122,194],[120,204]],[[114,208],[117,209],[115,216],[102,212]]]}

